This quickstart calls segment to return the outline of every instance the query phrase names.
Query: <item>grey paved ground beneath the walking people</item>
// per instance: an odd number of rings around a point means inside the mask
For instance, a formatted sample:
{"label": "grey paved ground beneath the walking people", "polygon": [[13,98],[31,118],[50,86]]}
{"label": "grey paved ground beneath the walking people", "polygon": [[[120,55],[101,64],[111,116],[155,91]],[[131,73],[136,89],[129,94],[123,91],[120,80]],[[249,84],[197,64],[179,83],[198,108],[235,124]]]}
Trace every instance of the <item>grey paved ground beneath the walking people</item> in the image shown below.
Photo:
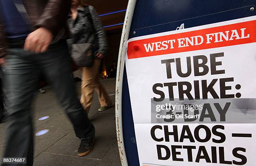
{"label": "grey paved ground beneath the walking people", "polygon": [[[99,112],[100,103],[94,96],[89,118],[96,128],[95,146],[84,157],[77,156],[79,139],[76,138],[67,115],[63,112],[50,87],[45,94],[37,93],[33,102],[34,166],[121,166],[115,130],[115,79],[101,81],[113,101],[108,110]],[[76,83],[77,97],[80,83]],[[46,120],[40,117],[49,116]],[[48,133],[35,136],[40,130]],[[5,146],[5,123],[0,124],[0,156]]]}

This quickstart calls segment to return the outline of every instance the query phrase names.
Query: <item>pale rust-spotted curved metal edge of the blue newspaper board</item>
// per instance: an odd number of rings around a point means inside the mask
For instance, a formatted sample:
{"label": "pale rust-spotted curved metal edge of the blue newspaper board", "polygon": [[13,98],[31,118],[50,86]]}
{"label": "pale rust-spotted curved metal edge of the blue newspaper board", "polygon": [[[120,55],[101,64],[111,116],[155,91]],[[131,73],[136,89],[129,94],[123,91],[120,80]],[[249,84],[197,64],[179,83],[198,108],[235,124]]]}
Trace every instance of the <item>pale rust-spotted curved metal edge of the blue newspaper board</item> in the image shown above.
{"label": "pale rust-spotted curved metal edge of the blue newspaper board", "polygon": [[133,19],[133,11],[136,5],[136,0],[129,0],[125,20],[123,25],[123,31],[121,36],[121,42],[119,47],[118,56],[118,69],[115,88],[115,123],[116,134],[118,141],[118,149],[120,153],[120,160],[122,166],[128,166],[127,158],[125,155],[125,147],[123,143],[123,128],[122,128],[122,87],[123,87],[123,70],[125,64],[126,46],[131,28],[131,22]]}

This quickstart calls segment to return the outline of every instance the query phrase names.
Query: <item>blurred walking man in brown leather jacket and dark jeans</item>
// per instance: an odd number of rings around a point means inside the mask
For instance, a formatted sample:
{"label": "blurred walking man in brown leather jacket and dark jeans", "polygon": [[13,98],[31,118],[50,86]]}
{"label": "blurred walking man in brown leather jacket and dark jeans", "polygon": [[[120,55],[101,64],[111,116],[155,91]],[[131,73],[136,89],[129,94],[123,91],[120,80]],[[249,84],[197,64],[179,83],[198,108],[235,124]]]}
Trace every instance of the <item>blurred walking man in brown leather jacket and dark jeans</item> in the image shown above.
{"label": "blurred walking man in brown leather jacket and dark jeans", "polygon": [[33,165],[31,102],[41,72],[81,139],[78,155],[93,147],[95,128],[76,97],[66,45],[69,10],[70,0],[0,0],[0,63],[10,101],[3,157],[26,157],[24,166]]}

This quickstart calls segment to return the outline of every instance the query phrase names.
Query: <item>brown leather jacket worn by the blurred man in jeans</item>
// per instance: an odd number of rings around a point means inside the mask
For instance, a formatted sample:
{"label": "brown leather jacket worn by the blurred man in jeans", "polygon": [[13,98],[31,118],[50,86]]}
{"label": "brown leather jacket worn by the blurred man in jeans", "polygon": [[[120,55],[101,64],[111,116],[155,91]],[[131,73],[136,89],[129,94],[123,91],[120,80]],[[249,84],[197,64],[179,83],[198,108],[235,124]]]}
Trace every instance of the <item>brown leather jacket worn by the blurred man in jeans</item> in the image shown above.
{"label": "brown leather jacket worn by the blurred man in jeans", "polygon": [[[53,36],[60,34],[60,30],[66,30],[66,19],[70,11],[71,0],[22,0],[30,17],[33,27],[44,27],[51,31]],[[62,34],[63,35],[63,34]],[[0,57],[5,56],[5,33],[3,24],[0,23]]]}

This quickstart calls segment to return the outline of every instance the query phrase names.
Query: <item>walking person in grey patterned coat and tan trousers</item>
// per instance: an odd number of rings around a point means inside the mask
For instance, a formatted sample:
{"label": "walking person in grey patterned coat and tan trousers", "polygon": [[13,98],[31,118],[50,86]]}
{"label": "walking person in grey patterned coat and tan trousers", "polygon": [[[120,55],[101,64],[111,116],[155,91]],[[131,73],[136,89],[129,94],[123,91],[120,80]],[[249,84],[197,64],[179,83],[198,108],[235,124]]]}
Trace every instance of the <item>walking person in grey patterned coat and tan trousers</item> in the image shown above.
{"label": "walking person in grey patterned coat and tan trousers", "polygon": [[98,110],[104,111],[111,106],[111,100],[97,77],[101,60],[107,50],[106,35],[100,18],[95,9],[86,5],[83,0],[72,0],[71,15],[67,22],[71,33],[71,44],[92,43],[94,54],[93,65],[81,67],[81,104],[88,113],[92,105],[93,92],[96,91],[101,106]]}

